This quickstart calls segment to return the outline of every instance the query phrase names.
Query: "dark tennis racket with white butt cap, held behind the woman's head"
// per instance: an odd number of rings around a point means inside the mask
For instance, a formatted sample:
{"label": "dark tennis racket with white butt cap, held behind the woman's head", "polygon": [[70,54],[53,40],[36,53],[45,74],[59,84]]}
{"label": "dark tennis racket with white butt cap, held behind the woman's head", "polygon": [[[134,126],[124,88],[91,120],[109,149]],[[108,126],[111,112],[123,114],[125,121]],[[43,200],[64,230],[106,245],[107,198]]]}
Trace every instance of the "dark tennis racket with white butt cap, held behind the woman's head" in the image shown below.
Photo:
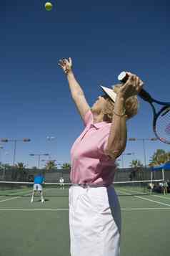
{"label": "dark tennis racket with white butt cap, held behind the woman's head", "polygon": [[[118,76],[118,80],[125,83],[129,78],[126,72],[121,72]],[[153,110],[153,130],[160,141],[170,144],[170,103],[164,103],[159,100],[155,100],[151,97],[146,90],[142,89],[139,93],[142,100],[145,100],[151,105]],[[153,103],[159,105],[159,110],[156,112],[156,108]]]}

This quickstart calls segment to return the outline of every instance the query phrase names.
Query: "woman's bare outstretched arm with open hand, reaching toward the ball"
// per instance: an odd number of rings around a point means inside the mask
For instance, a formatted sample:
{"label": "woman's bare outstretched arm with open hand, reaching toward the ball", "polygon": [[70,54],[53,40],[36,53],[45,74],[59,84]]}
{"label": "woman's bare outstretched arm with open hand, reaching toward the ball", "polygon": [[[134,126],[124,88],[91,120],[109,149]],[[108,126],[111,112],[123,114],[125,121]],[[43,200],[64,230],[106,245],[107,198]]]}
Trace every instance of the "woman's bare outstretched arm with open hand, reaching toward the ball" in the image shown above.
{"label": "woman's bare outstretched arm with open hand, reaching toward the ball", "polygon": [[69,82],[69,88],[71,91],[71,96],[76,104],[76,108],[79,110],[81,118],[84,120],[84,115],[90,109],[89,104],[86,102],[84,92],[79,85],[79,82],[76,81],[74,73],[72,71],[72,61],[63,59],[59,60],[59,66],[64,70],[67,80]]}

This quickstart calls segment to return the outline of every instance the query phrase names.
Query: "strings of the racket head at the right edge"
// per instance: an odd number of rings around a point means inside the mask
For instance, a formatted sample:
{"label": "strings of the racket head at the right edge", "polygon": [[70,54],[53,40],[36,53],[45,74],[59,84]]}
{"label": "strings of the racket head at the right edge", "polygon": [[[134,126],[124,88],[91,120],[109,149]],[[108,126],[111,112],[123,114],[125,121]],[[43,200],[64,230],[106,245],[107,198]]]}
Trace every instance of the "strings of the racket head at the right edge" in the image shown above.
{"label": "strings of the racket head at the right edge", "polygon": [[168,108],[159,114],[154,130],[161,141],[170,144],[170,110]]}

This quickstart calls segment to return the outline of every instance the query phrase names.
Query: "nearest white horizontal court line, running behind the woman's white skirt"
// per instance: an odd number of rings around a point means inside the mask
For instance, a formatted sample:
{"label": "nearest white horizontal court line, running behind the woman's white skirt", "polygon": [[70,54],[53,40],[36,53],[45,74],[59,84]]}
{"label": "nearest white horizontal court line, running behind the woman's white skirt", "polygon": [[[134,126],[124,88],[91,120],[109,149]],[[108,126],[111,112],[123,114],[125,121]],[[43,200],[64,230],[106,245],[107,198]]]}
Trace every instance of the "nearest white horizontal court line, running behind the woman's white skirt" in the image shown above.
{"label": "nearest white horizontal court line, running behind the woman's white skirt", "polygon": [[[121,211],[148,211],[148,210],[170,210],[170,207],[159,207],[159,208],[121,208]],[[20,212],[61,212],[69,211],[69,209],[22,209],[22,208],[0,208],[1,211],[20,211]]]}

